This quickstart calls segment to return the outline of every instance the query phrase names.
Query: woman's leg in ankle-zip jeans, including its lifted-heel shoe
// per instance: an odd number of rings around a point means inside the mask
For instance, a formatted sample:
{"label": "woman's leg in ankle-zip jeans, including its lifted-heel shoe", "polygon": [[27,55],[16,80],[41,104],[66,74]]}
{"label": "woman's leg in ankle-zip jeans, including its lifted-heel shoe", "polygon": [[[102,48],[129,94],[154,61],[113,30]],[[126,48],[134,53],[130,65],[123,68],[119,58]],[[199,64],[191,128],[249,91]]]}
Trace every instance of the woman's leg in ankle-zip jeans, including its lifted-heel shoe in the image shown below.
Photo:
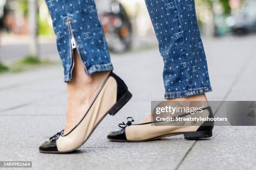
{"label": "woman's leg in ankle-zip jeans, including its lifted-heel shoe", "polygon": [[66,128],[41,143],[42,153],[68,153],[82,146],[107,115],[131,93],[113,70],[94,0],[46,0],[67,82]]}

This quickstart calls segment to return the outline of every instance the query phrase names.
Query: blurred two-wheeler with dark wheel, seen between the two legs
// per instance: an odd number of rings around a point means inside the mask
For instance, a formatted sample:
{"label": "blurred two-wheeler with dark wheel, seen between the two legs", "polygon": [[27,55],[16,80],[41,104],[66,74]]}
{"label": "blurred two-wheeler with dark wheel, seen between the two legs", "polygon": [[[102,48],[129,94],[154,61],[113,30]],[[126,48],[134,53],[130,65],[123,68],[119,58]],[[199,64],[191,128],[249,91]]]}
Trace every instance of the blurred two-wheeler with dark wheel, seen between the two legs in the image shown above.
{"label": "blurred two-wheeler with dark wheel, seen between the two legs", "polygon": [[118,0],[95,0],[109,50],[124,53],[131,49],[132,25],[123,5]]}

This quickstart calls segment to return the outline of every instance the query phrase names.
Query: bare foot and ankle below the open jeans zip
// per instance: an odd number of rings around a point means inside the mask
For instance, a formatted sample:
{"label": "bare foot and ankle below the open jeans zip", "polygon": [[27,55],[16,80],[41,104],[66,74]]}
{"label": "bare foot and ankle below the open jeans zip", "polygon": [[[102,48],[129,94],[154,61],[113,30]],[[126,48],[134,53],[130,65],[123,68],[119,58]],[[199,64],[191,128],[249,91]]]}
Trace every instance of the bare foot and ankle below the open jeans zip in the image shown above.
{"label": "bare foot and ankle below the open jeans zip", "polygon": [[95,72],[88,76],[76,50],[74,50],[74,61],[72,81],[67,82],[67,110],[64,134],[69,133],[82,119],[110,73],[110,71]]}

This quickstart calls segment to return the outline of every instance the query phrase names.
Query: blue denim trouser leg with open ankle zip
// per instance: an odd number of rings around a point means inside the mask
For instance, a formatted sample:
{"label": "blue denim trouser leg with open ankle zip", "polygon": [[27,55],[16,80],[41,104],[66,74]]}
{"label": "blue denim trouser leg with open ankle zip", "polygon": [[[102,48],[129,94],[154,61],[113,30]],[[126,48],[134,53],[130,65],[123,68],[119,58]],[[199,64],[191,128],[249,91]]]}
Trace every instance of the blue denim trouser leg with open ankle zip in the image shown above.
{"label": "blue denim trouser leg with open ankle zip", "polygon": [[57,47],[64,67],[64,81],[72,80],[76,49],[87,75],[113,70],[94,0],[46,0]]}

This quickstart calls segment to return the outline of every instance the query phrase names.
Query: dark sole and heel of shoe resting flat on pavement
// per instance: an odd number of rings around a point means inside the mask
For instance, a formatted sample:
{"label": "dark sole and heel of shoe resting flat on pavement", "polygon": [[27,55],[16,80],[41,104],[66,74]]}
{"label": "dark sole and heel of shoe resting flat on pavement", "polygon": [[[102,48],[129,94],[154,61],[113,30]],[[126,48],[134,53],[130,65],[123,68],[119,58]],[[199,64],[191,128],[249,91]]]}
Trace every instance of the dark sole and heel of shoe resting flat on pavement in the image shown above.
{"label": "dark sole and heel of shoe resting flat on pavement", "polygon": [[157,140],[157,139],[166,138],[166,137],[175,136],[175,135],[184,135],[184,138],[187,140],[197,140],[197,139],[201,139],[201,138],[212,137],[212,130],[199,131],[199,132],[169,133],[166,135],[161,135],[161,136],[158,136],[155,138],[150,138],[150,139],[145,139],[145,140],[118,140],[118,139],[110,139],[110,138],[107,138],[107,139],[114,141],[114,142],[147,142],[147,141]]}

